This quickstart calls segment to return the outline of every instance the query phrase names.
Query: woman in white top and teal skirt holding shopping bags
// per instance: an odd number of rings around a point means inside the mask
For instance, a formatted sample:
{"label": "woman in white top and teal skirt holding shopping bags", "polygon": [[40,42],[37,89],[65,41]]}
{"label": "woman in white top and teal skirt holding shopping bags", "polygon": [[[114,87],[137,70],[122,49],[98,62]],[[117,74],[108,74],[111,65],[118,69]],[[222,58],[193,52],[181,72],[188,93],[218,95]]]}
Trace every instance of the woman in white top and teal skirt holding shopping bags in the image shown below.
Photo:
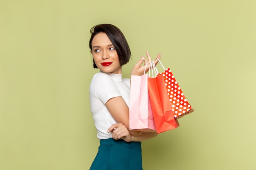
{"label": "woman in white top and teal skirt holding shopping bags", "polygon": [[[100,140],[90,170],[142,170],[140,141],[157,133],[129,130],[130,79],[122,78],[122,66],[131,56],[128,43],[116,26],[99,24],[91,29],[89,46],[93,67],[100,70],[90,84],[90,108]],[[141,56],[131,75],[144,74],[151,62],[148,52],[146,55],[148,60]]]}

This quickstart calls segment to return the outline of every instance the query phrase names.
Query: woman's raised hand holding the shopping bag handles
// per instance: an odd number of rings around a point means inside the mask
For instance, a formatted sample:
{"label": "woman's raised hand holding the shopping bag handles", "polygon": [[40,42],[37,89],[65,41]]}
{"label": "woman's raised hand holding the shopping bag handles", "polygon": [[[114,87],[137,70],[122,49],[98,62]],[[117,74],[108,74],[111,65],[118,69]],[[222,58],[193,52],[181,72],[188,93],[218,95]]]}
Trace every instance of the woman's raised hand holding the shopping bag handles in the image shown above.
{"label": "woman's raised hand holding the shopping bag handles", "polygon": [[[148,60],[146,60],[146,58],[141,55],[141,59],[132,68],[131,75],[143,75],[146,66],[147,66],[147,68],[146,68],[146,72],[145,73],[148,72],[149,64],[147,65],[147,63],[152,62],[152,60],[151,60],[151,57],[150,57],[148,51],[146,51],[146,55],[148,57]],[[161,54],[158,54],[157,58],[160,59],[161,58]],[[143,64],[143,62],[144,62],[144,65],[141,66],[141,64]],[[158,62],[157,59],[154,60],[155,65],[157,64],[157,62]]]}

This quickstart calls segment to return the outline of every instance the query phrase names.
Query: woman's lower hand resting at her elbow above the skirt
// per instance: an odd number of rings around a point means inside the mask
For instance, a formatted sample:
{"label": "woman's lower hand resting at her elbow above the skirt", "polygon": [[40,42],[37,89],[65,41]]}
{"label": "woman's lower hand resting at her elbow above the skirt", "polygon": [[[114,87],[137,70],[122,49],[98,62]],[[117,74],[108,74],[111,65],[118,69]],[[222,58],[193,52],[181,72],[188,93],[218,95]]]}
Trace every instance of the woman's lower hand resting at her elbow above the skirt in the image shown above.
{"label": "woman's lower hand resting at her elbow above the skirt", "polygon": [[122,123],[112,124],[112,126],[108,128],[108,133],[109,132],[112,132],[112,138],[115,140],[123,139],[126,142],[130,142],[132,139],[129,130]]}

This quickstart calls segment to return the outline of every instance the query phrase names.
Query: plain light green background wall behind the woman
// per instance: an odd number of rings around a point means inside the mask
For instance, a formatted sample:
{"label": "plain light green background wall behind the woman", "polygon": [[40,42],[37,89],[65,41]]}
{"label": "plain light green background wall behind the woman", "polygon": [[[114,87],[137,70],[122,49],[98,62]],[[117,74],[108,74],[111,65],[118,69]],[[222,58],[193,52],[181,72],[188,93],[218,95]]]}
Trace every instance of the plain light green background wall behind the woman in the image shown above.
{"label": "plain light green background wall behind the woman", "polygon": [[132,51],[124,77],[145,51],[162,53],[195,109],[143,141],[144,170],[254,170],[255,9],[255,0],[0,0],[0,169],[90,168],[98,70],[88,41],[92,26],[111,23]]}

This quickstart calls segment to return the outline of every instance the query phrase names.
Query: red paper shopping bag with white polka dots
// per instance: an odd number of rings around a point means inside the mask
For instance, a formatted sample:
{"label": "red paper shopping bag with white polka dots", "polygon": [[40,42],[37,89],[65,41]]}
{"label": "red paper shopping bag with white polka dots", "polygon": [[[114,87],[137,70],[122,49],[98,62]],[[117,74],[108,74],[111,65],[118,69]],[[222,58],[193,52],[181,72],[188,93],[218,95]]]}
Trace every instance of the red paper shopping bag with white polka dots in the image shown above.
{"label": "red paper shopping bag with white polka dots", "polygon": [[[159,64],[164,68],[163,64],[157,58]],[[174,117],[176,119],[183,117],[189,113],[192,113],[194,109],[187,101],[184,93],[182,92],[179,84],[177,83],[173,73],[171,72],[170,68],[165,69],[164,72],[158,73],[157,76],[161,76],[164,78],[165,86],[168,92],[168,97],[172,106],[172,110],[174,113]]]}

